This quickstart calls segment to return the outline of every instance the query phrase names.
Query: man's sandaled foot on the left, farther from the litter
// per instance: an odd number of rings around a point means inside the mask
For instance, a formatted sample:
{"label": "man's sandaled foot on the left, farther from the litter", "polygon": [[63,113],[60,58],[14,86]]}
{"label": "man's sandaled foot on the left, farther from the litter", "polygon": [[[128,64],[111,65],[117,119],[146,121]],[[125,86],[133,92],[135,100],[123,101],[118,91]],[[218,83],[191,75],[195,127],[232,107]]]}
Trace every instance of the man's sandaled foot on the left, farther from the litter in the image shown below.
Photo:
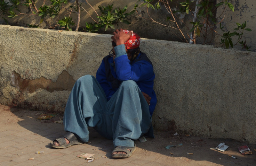
{"label": "man's sandaled foot on the left, farther from the litter", "polygon": [[64,137],[55,139],[50,146],[56,149],[67,148],[72,145],[81,145],[85,142],[80,141],[73,133],[67,132]]}

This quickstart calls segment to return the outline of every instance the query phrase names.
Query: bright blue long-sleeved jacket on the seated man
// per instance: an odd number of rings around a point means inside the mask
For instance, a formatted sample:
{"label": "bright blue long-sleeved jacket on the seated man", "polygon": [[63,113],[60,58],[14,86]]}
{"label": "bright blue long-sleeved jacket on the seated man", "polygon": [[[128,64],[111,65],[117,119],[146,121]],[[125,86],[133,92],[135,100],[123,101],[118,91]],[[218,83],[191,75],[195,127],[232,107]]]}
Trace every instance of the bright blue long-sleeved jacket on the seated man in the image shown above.
{"label": "bright blue long-sleeved jacket on the seated man", "polygon": [[[115,49],[115,53],[118,55],[118,50]],[[97,70],[96,79],[105,91],[107,100],[117,91],[122,81],[135,81],[139,89],[151,97],[149,111],[152,116],[157,104],[153,90],[155,78],[153,65],[145,53],[140,52],[133,62],[130,62],[127,54],[122,54],[116,56],[115,63],[110,55],[105,56]]]}

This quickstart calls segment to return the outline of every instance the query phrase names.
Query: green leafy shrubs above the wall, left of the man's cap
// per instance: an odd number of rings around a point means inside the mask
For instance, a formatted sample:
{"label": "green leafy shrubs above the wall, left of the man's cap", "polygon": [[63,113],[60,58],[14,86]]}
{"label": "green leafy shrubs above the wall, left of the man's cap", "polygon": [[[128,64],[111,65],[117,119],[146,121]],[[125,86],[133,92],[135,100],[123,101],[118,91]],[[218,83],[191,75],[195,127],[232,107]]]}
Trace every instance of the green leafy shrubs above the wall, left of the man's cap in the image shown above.
{"label": "green leafy shrubs above the wall, left of the man's cap", "polygon": [[[56,29],[56,28],[64,28],[65,30],[72,30],[73,26],[75,26],[75,31],[79,30],[80,26],[80,17],[81,14],[89,14],[85,8],[82,7],[81,0],[70,0],[70,2],[75,2],[74,6],[67,6],[68,0],[44,0],[41,6],[37,5],[38,0],[25,0],[25,2],[21,2],[21,0],[9,0],[9,2],[5,2],[5,0],[0,0],[0,16],[6,21],[8,24],[7,18],[14,18],[20,15],[27,16],[38,16],[40,21],[37,25],[27,25],[28,27],[39,27],[39,25],[44,22],[47,28]],[[86,2],[86,5],[89,5],[90,8],[93,6],[90,5],[88,0],[83,0]],[[46,5],[50,4],[50,5]],[[21,9],[24,7],[29,9],[28,13],[22,13]],[[93,23],[85,23],[85,31],[86,32],[97,32],[100,28],[114,28],[114,24],[117,23],[125,23],[130,24],[127,20],[127,16],[133,14],[135,10],[131,12],[127,12],[127,6],[123,9],[121,8],[113,8],[112,5],[108,5],[106,7],[99,6],[98,7],[101,14],[99,15],[96,10],[93,8],[95,14],[97,15],[98,20],[96,21],[91,15],[90,18],[94,21]],[[85,11],[85,12],[84,12]],[[65,16],[61,17],[61,14]],[[77,22],[74,23],[72,17],[70,17],[71,13],[75,13],[77,15]],[[68,16],[66,16],[68,15]],[[56,21],[52,22],[54,18]]]}

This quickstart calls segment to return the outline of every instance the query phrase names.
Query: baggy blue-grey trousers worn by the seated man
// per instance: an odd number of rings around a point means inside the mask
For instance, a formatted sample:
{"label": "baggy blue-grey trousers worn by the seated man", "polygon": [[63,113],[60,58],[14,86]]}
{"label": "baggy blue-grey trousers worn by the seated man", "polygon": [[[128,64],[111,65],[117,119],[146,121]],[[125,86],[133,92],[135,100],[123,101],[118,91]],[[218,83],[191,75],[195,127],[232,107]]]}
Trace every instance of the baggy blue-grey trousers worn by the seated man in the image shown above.
{"label": "baggy blue-grey trousers worn by the seated man", "polygon": [[134,147],[134,140],[151,127],[149,105],[135,81],[123,81],[109,101],[96,78],[79,78],[70,93],[64,112],[64,129],[88,142],[88,126],[103,137],[113,139],[114,147]]}

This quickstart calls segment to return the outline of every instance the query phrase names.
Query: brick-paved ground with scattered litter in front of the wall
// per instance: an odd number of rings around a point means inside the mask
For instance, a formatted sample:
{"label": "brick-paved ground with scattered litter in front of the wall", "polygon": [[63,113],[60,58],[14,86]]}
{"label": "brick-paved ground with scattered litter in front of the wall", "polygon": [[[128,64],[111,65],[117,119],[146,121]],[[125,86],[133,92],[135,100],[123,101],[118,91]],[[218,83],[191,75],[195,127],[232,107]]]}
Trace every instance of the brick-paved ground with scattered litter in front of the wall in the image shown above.
{"label": "brick-paved ground with scattered litter in front of the wall", "polygon": [[[243,156],[238,147],[246,142],[231,139],[207,139],[195,136],[174,135],[174,132],[155,131],[155,138],[141,143],[135,141],[136,151],[127,159],[112,159],[112,141],[90,129],[90,143],[66,149],[52,149],[49,143],[64,135],[63,125],[54,123],[62,118],[57,114],[50,120],[38,120],[42,111],[22,110],[0,105],[0,165],[9,166],[112,166],[112,165],[173,165],[173,166],[255,166],[256,145],[248,145],[254,152]],[[189,133],[188,133],[189,134]],[[224,152],[211,150],[219,143],[229,146]],[[166,149],[168,145],[179,145]],[[44,151],[43,154],[35,154]],[[173,155],[170,154],[173,153]],[[76,157],[83,153],[94,154],[93,162]],[[193,153],[192,155],[187,153]],[[228,155],[232,155],[234,159]],[[102,156],[106,156],[102,157]],[[33,158],[33,159],[31,159]]]}

